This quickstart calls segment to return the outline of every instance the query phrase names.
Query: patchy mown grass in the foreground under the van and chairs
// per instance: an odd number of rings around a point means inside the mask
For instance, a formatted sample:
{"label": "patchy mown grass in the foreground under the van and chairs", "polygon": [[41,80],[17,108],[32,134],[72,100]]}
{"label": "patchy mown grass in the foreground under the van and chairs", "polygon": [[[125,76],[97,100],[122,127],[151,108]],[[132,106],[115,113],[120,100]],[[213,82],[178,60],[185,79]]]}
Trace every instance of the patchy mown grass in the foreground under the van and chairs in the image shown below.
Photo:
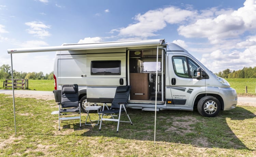
{"label": "patchy mown grass in the foreground under the van and chairs", "polygon": [[[256,108],[238,106],[217,117],[198,112],[154,112],[128,109],[133,125],[104,122],[85,126],[65,121],[58,131],[53,100],[15,98],[17,134],[14,134],[12,97],[0,94],[0,156],[256,156]],[[91,118],[97,119],[96,113]],[[128,120],[122,116],[123,120]]]}

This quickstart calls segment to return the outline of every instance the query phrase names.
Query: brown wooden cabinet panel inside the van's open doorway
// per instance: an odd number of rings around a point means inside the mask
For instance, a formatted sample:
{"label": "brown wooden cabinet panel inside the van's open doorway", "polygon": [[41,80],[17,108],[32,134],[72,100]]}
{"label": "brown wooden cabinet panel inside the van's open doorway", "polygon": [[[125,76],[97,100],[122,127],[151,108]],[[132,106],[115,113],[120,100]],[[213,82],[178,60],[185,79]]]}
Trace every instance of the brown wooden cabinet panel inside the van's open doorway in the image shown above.
{"label": "brown wooden cabinet panel inside the van's open doorway", "polygon": [[149,74],[130,73],[130,99],[148,100],[149,99]]}

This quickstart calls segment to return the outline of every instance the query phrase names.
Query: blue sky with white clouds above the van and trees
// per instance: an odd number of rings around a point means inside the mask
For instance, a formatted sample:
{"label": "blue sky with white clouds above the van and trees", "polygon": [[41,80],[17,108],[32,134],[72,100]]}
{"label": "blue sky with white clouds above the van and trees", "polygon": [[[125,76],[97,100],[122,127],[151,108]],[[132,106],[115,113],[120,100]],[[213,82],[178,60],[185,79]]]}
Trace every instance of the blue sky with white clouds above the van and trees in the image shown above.
{"label": "blue sky with white clouds above the van and trees", "polygon": [[[1,0],[0,65],[9,48],[165,39],[213,72],[256,66],[255,0]],[[53,71],[55,52],[13,55],[19,72]]]}

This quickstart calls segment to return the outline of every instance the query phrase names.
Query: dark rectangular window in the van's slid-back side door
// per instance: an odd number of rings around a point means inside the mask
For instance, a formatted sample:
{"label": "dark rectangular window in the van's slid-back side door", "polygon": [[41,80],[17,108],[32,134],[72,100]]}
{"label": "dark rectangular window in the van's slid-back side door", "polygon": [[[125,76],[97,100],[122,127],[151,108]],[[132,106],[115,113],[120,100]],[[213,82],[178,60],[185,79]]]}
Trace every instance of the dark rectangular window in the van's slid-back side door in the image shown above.
{"label": "dark rectangular window in the van's slid-back side door", "polygon": [[91,61],[91,75],[120,75],[120,60]]}

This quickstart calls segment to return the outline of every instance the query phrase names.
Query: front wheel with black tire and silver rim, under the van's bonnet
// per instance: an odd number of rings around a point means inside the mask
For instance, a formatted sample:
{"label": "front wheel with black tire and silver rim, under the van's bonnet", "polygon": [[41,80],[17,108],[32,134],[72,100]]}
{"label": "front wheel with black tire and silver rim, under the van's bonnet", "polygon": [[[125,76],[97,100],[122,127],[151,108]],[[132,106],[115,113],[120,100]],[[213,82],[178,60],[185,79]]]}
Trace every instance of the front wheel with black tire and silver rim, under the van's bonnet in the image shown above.
{"label": "front wheel with black tire and silver rim, under the van's bonnet", "polygon": [[202,116],[215,117],[221,110],[221,103],[213,96],[205,96],[198,101],[197,110]]}

